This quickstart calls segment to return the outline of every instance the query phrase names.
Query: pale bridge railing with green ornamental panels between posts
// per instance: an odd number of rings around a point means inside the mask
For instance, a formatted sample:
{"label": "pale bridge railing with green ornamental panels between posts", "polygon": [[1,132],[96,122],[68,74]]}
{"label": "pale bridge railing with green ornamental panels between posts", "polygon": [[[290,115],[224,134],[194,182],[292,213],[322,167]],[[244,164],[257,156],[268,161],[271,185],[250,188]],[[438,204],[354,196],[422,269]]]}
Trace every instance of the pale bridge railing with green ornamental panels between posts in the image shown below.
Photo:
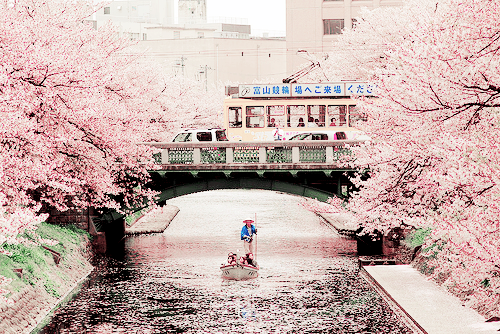
{"label": "pale bridge railing with green ornamental panels between posts", "polygon": [[203,164],[332,164],[351,156],[363,141],[315,140],[271,142],[141,143],[161,149],[162,165]]}

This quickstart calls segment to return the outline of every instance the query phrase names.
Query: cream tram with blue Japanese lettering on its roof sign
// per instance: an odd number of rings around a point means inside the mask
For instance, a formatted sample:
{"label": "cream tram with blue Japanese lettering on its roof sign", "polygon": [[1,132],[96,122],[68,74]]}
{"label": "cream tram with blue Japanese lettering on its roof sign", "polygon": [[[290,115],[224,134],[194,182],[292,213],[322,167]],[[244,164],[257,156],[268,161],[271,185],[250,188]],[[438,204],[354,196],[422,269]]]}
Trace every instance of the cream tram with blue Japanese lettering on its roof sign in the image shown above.
{"label": "cream tram with blue Japanese lettering on its roof sign", "polygon": [[224,127],[230,141],[272,141],[279,127],[285,139],[306,131],[344,132],[356,139],[353,127],[366,120],[353,95],[375,96],[365,82],[316,84],[252,84],[226,87]]}

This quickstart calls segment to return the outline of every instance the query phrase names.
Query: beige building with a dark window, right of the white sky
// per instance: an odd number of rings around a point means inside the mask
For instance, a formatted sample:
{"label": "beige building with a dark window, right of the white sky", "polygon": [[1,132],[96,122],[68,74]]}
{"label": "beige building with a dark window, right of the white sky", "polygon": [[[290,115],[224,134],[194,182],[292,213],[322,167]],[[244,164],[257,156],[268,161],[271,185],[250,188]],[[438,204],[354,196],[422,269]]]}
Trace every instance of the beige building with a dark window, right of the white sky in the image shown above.
{"label": "beige building with a dark window, right of the white sky", "polygon": [[287,73],[307,64],[298,50],[322,56],[342,29],[356,23],[362,7],[401,6],[403,0],[286,0]]}

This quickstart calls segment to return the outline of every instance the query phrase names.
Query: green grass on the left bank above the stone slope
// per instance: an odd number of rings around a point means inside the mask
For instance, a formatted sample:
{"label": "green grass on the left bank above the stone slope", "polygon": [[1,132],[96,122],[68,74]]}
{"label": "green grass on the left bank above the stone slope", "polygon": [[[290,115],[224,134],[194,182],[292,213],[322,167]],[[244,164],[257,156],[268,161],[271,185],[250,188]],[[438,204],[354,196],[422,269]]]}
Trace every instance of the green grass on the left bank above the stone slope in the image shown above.
{"label": "green grass on the left bank above the stone slope", "polygon": [[[36,233],[44,239],[59,241],[57,245],[48,247],[60,253],[63,259],[77,248],[81,248],[82,243],[90,239],[90,235],[86,231],[74,225],[62,227],[40,223]],[[27,234],[22,236],[30,238]],[[59,284],[52,279],[56,264],[48,250],[42,246],[23,244],[3,244],[0,247],[12,253],[10,256],[0,254],[0,275],[13,279],[9,285],[3,287],[4,289],[14,293],[19,292],[28,284],[43,286],[49,294],[59,297]],[[22,279],[14,272],[14,269],[22,269]],[[59,274],[64,279],[64,274],[62,272]]]}

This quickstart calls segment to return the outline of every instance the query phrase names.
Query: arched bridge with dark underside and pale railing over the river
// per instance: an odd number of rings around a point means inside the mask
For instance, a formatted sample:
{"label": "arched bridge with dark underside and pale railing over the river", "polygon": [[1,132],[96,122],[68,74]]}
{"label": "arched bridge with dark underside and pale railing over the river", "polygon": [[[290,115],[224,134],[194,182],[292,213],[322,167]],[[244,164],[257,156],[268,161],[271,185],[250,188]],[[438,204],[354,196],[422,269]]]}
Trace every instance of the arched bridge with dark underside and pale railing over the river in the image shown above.
{"label": "arched bridge with dark underside and pale railing over the river", "polygon": [[[158,191],[161,205],[170,198],[216,189],[264,189],[320,201],[348,197],[355,190],[349,176],[360,172],[351,148],[361,144],[317,140],[139,145],[160,150],[147,186]],[[123,238],[124,215],[112,211],[93,220],[107,244]]]}

